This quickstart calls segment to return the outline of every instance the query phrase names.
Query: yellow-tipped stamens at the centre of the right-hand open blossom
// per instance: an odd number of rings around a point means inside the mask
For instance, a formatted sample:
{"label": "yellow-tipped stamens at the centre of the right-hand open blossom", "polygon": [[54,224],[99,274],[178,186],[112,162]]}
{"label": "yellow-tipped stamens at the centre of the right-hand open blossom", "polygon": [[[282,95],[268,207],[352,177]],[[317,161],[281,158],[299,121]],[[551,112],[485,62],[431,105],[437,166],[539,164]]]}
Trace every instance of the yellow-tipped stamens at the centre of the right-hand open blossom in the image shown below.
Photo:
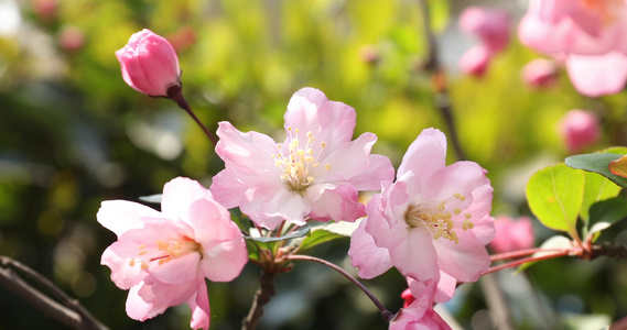
{"label": "yellow-tipped stamens at the centre of the right-hand open blossom", "polygon": [[[461,194],[454,194],[453,197],[440,202],[424,202],[412,204],[409,206],[404,213],[404,222],[410,228],[424,226],[433,237],[434,240],[444,238],[455,243],[460,243],[457,233],[455,232],[455,222],[452,220],[453,216],[462,213],[462,210],[454,208],[453,212],[447,210],[446,205],[460,200],[464,201],[466,197]],[[464,213],[466,220],[462,223],[462,230],[468,230],[475,227],[469,220],[472,216]]]}

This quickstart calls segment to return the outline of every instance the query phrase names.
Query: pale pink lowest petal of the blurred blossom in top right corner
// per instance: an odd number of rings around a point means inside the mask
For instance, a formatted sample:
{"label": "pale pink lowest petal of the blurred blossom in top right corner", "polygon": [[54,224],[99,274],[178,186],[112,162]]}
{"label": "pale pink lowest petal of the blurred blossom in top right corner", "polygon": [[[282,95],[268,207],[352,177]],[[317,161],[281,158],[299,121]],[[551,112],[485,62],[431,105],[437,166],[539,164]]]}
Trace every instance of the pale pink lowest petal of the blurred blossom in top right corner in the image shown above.
{"label": "pale pink lowest petal of the blurred blossom in top right corner", "polygon": [[627,80],[627,56],[616,51],[597,56],[570,54],[566,68],[575,89],[588,97],[616,94]]}

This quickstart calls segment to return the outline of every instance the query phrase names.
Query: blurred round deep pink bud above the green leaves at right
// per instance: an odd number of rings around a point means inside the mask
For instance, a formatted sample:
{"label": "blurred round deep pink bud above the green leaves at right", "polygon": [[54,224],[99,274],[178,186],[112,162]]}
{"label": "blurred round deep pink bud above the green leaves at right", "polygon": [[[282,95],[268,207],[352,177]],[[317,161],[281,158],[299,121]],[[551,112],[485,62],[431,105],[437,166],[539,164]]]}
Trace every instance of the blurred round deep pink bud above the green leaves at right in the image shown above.
{"label": "blurred round deep pink bud above the green leaves at right", "polygon": [[594,112],[571,110],[560,121],[560,133],[571,153],[577,153],[601,139],[601,124]]}

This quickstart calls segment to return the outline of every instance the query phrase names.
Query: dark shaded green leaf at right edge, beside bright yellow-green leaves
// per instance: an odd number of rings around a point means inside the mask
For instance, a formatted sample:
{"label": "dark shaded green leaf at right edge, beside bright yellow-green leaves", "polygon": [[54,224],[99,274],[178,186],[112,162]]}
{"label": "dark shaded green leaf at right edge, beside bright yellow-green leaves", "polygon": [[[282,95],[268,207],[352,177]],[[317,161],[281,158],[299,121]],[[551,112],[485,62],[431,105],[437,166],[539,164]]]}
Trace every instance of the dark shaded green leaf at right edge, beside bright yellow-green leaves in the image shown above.
{"label": "dark shaded green leaf at right edge, beside bright yellow-green leaves", "polygon": [[598,239],[601,231],[627,217],[627,200],[624,197],[615,197],[595,202],[590,208],[590,232],[593,242]]}

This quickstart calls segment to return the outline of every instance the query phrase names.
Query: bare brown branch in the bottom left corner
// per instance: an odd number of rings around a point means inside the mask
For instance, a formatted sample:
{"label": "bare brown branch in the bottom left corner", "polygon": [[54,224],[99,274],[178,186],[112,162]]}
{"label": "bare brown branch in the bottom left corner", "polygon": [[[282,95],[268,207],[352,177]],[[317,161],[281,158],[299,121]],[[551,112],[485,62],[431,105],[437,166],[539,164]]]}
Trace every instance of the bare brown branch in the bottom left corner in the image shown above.
{"label": "bare brown branch in the bottom left corner", "polygon": [[[60,301],[55,301],[31,286],[23,280],[17,272],[26,275],[30,279],[47,289]],[[3,255],[0,255],[0,284],[50,317],[71,328],[108,329],[94,318],[77,300],[72,299],[52,282],[26,265]]]}

